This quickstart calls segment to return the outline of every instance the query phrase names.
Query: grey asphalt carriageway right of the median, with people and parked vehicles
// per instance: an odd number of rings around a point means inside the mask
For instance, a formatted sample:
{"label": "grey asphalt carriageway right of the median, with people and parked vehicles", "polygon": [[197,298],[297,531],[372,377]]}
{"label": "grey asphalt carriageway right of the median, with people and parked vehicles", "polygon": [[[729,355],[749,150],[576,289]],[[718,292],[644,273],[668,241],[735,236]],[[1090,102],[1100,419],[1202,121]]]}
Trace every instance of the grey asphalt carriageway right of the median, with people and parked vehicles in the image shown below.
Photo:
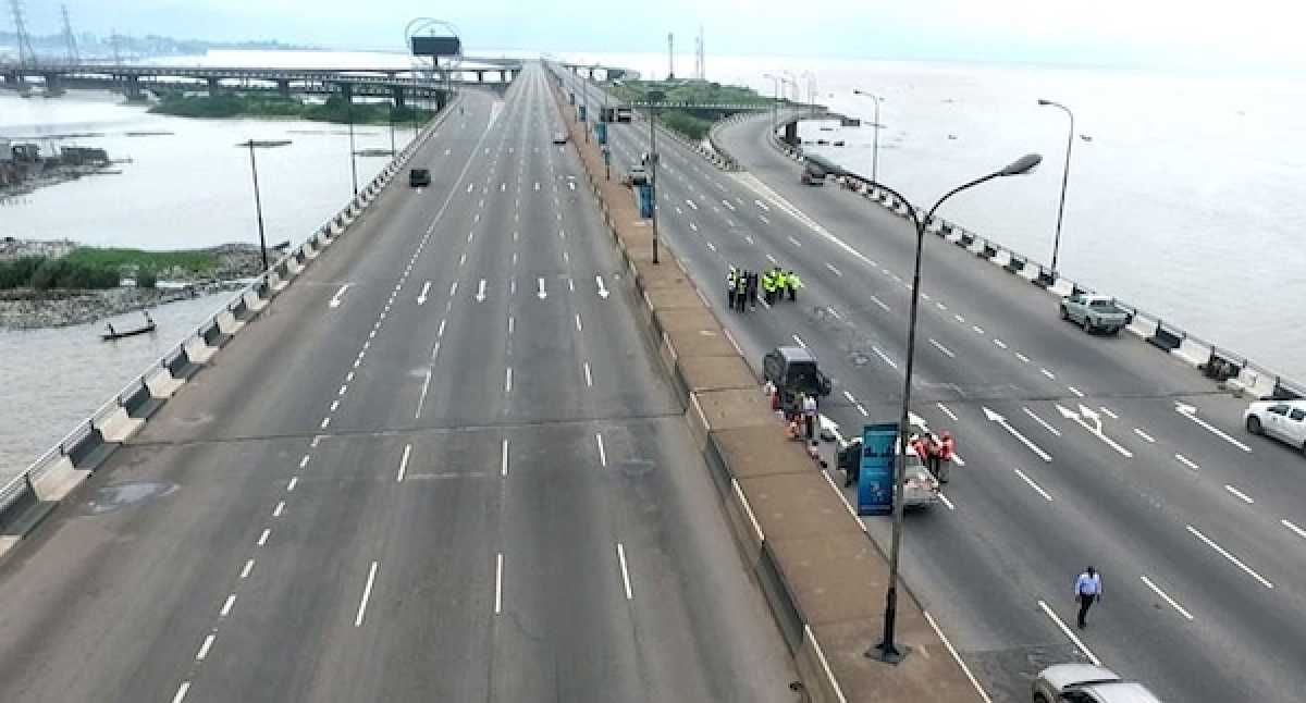
{"label": "grey asphalt carriageway right of the median, with people and parked vehicles", "polygon": [[[816,353],[835,380],[823,414],[857,436],[899,417],[914,233],[850,191],[799,184],[767,128],[724,129],[735,174],[660,139],[660,231],[718,291],[755,368],[776,345]],[[648,125],[610,129],[619,178],[648,150]],[[781,265],[804,287],[731,314],[731,264]],[[965,465],[946,504],[908,516],[902,568],[989,694],[1028,700],[1042,666],[1097,659],[1164,700],[1301,700],[1301,452],[1249,435],[1246,402],[1191,367],[1128,333],[1085,335],[1053,297],[935,235],[922,281],[913,410],[953,431]],[[887,550],[888,519],[866,527]],[[1074,583],[1088,564],[1104,598],[1080,631]]]}

